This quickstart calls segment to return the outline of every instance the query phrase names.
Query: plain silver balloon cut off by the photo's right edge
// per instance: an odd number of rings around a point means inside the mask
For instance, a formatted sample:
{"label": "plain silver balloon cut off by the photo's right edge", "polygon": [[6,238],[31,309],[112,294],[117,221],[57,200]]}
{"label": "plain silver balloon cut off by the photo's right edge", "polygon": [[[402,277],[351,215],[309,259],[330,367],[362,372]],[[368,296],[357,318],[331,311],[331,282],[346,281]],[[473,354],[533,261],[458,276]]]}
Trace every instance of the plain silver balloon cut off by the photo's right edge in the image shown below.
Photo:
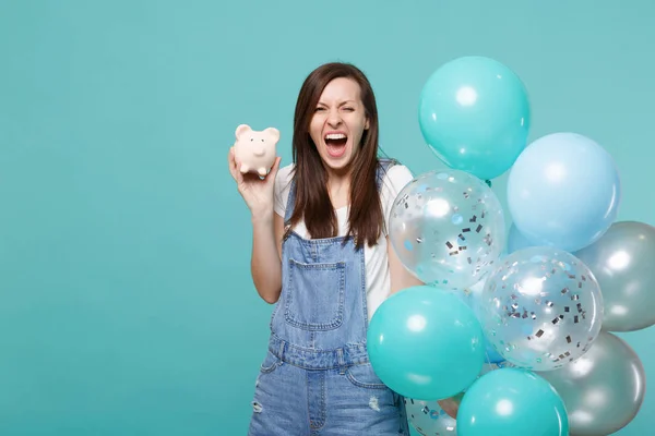
{"label": "plain silver balloon cut off by the photo's right edge", "polygon": [[655,227],[619,221],[598,241],[574,253],[603,289],[606,331],[655,325]]}

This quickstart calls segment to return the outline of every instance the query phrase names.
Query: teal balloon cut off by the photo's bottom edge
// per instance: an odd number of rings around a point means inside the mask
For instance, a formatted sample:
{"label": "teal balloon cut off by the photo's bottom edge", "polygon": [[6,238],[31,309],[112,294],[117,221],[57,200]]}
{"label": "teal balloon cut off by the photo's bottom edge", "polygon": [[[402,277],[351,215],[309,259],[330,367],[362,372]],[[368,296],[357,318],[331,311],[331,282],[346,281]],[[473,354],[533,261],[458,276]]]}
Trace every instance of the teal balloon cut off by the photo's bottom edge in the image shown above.
{"label": "teal balloon cut off by the photo's bottom edge", "polygon": [[543,377],[504,367],[468,388],[457,411],[458,436],[569,435],[564,402]]}

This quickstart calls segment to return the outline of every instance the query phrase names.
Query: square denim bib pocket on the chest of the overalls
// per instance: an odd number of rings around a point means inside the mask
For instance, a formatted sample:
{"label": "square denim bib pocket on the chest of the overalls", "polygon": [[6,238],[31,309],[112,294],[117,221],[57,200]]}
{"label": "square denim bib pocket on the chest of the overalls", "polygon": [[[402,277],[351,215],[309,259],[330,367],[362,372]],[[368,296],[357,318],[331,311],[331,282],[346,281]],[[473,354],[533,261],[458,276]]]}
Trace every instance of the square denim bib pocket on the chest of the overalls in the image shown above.
{"label": "square denim bib pocket on the chest of the overalls", "polygon": [[285,319],[303,330],[332,330],[344,320],[346,263],[288,263]]}

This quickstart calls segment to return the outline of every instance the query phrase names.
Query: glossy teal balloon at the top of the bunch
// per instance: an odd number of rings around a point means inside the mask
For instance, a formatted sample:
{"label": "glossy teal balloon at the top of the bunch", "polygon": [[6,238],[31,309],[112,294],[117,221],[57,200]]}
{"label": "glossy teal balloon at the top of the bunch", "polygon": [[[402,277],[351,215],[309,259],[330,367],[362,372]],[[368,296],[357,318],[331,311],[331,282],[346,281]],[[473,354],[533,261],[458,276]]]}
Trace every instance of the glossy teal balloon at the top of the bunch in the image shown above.
{"label": "glossy teal balloon at the top of the bunch", "polygon": [[445,165],[490,180],[510,169],[526,147],[527,90],[493,59],[458,58],[424,85],[418,121],[428,146]]}

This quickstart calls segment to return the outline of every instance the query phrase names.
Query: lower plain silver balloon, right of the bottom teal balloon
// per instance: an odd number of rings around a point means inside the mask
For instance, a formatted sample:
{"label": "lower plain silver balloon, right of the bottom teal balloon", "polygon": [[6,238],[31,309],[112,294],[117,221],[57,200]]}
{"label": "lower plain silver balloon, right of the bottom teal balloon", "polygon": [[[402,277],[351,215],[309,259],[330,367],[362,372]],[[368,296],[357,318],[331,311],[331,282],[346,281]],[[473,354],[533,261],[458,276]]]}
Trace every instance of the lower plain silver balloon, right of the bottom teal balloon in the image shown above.
{"label": "lower plain silver balloon, right of the bottom teal balloon", "polygon": [[628,425],[646,391],[644,366],[630,346],[602,331],[590,351],[570,365],[546,373],[567,407],[571,435],[609,435]]}

